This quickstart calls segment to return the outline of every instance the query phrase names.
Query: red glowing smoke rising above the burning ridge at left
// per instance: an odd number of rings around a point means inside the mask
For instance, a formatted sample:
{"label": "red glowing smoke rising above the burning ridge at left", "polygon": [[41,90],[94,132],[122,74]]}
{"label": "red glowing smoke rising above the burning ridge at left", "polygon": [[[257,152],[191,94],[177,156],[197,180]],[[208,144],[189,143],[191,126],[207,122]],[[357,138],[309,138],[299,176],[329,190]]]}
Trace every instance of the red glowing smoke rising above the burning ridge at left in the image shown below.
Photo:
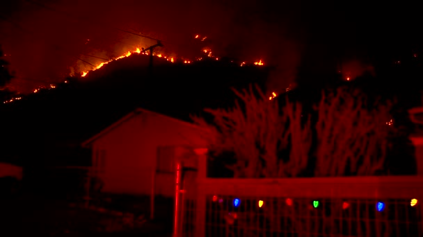
{"label": "red glowing smoke rising above the burning ridge at left", "polygon": [[[12,2],[10,0],[10,2]],[[303,35],[296,7],[262,1],[41,1],[10,3],[8,21],[0,21],[0,43],[11,56],[14,85],[22,80],[57,82],[70,73],[90,69],[137,46],[155,44],[127,30],[163,40],[163,51],[191,57],[200,49],[193,36],[214,55],[239,60],[263,60],[276,67],[271,85],[294,80]],[[300,30],[298,30],[300,29]],[[94,55],[93,58],[88,55]],[[81,59],[81,60],[79,60]],[[83,61],[86,62],[83,62]],[[22,80],[19,80],[22,78]]]}

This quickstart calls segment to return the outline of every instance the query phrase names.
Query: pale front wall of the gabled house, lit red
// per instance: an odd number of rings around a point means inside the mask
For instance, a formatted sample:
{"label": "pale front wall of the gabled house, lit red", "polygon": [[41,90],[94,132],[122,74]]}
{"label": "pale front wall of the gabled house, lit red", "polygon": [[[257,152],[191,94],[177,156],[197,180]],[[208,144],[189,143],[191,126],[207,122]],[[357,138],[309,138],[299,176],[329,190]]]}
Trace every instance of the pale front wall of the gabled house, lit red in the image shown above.
{"label": "pale front wall of the gabled house, lit red", "polygon": [[[104,173],[99,174],[104,181],[102,191],[149,195],[159,146],[205,147],[205,144],[194,125],[143,112],[93,142],[93,163],[95,151],[106,150]],[[173,174],[157,174],[156,193],[173,196],[174,179]]]}

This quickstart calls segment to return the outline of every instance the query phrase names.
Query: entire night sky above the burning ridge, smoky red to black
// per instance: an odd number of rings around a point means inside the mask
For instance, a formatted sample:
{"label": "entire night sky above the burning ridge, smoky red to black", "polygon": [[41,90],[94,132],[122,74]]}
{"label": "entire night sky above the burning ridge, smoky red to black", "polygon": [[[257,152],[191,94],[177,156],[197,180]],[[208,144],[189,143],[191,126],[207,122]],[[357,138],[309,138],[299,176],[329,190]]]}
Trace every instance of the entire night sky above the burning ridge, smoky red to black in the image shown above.
{"label": "entire night sky above the burning ridge, smoky red to black", "polygon": [[[276,3],[277,2],[277,3]],[[6,0],[0,7],[0,44],[15,71],[10,86],[30,91],[72,72],[154,44],[129,30],[163,40],[164,53],[193,57],[201,46],[218,56],[262,59],[276,67],[270,84],[285,88],[298,68],[362,71],[376,58],[419,49],[418,7],[368,1],[107,1]],[[120,30],[118,30],[120,29]],[[207,36],[198,44],[196,34]],[[89,40],[89,41],[88,41]],[[350,70],[350,71],[351,71]]]}

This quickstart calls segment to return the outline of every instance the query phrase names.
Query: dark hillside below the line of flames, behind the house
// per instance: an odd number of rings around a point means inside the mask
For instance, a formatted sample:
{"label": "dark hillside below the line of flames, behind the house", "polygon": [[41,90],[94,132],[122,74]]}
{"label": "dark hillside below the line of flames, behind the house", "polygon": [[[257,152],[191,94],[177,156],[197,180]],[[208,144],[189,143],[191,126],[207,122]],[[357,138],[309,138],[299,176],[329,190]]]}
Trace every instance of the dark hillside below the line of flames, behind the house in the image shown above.
{"label": "dark hillside below the line of flames, behind the house", "polygon": [[80,143],[136,107],[189,120],[205,107],[230,105],[230,87],[264,87],[269,73],[229,59],[184,64],[156,57],[152,70],[148,63],[147,55],[131,55],[1,106],[2,159],[31,166],[82,164]]}

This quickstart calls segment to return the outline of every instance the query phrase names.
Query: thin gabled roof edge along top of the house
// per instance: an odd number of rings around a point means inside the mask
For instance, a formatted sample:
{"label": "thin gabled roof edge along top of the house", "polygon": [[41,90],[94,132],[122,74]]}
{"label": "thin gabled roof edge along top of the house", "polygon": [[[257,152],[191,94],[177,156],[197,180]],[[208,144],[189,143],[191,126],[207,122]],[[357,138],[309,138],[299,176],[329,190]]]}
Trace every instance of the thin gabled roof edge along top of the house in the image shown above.
{"label": "thin gabled roof edge along top of the house", "polygon": [[195,125],[194,123],[189,123],[189,122],[186,122],[186,121],[182,121],[182,120],[180,120],[180,119],[175,119],[175,118],[173,118],[173,117],[166,116],[166,115],[164,115],[164,114],[159,114],[159,113],[157,113],[157,112],[152,112],[152,111],[147,110],[147,109],[143,109],[143,108],[136,108],[134,111],[130,112],[129,114],[127,114],[127,115],[125,115],[125,116],[123,116],[123,117],[122,117],[122,119],[119,119],[119,120],[118,120],[118,121],[116,121],[115,123],[112,123],[111,125],[109,125],[109,127],[104,128],[104,130],[102,130],[101,132],[99,132],[99,133],[95,134],[93,137],[90,137],[90,139],[88,139],[88,140],[84,141],[84,142],[81,144],[81,146],[82,146],[82,147],[88,147],[88,146],[90,146],[90,144],[91,144],[91,143],[93,143],[93,141],[95,141],[95,140],[99,139],[100,137],[103,137],[105,134],[108,134],[109,132],[111,132],[111,131],[112,131],[112,130],[114,130],[115,128],[118,128],[118,126],[119,126],[120,124],[122,124],[122,123],[124,123],[125,121],[127,121],[127,120],[131,119],[131,118],[132,118],[132,117],[134,117],[134,116],[137,116],[137,115],[139,115],[139,114],[143,114],[143,113],[146,113],[146,114],[154,114],[154,115],[157,115],[157,116],[162,116],[162,117],[165,117],[166,119],[169,119],[169,120],[171,120],[171,121],[175,121],[175,122],[177,122],[177,123],[181,123],[182,125],[191,126],[192,128],[205,129],[205,128],[202,128],[202,127],[200,127],[200,126],[198,126],[198,125]]}

